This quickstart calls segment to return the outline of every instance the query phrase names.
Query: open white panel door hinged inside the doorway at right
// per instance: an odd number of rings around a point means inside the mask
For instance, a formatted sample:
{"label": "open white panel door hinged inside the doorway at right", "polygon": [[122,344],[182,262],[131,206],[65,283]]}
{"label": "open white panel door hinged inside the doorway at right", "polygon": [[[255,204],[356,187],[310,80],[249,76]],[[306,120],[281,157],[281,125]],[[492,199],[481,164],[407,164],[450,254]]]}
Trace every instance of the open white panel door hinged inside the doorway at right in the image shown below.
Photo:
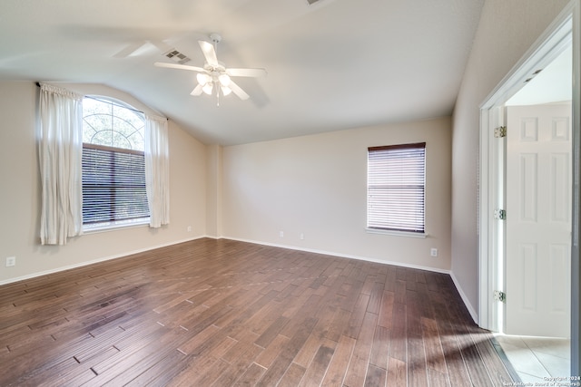
{"label": "open white panel door hinged inside the doorway at right", "polygon": [[571,104],[507,108],[506,333],[569,337]]}

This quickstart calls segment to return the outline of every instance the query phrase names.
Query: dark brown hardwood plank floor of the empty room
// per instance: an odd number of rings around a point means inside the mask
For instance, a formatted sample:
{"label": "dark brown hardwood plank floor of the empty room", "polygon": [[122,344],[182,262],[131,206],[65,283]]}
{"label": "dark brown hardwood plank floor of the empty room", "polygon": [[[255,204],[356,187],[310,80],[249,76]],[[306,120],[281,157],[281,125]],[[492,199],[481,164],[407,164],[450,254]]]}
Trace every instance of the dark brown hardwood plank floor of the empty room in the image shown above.
{"label": "dark brown hardwood plank floor of the empty room", "polygon": [[0,286],[1,386],[501,386],[447,275],[199,239]]}

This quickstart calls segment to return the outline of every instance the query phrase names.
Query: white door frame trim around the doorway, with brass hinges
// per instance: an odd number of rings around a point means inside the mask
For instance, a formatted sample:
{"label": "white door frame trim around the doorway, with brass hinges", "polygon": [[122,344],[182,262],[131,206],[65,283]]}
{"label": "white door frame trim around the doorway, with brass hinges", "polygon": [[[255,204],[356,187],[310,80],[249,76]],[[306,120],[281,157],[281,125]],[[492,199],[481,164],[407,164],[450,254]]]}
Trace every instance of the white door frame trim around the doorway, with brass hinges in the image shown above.
{"label": "white door frame trim around the doorway, with brass hinges", "polygon": [[[506,157],[505,141],[494,138],[494,130],[505,126],[504,104],[537,69],[552,62],[565,44],[573,44],[573,203],[571,232],[571,374],[579,375],[579,315],[581,266],[579,265],[579,240],[581,224],[581,0],[571,0],[563,11],[547,27],[545,33],[528,49],[520,61],[498,83],[485,102],[480,105],[480,152],[478,165],[478,235],[479,235],[479,305],[478,324],[488,330],[501,332],[504,304],[494,300],[495,290],[504,287],[504,225],[494,218],[499,202],[498,184],[504,179],[501,162]],[[510,296],[510,295],[508,295]]]}

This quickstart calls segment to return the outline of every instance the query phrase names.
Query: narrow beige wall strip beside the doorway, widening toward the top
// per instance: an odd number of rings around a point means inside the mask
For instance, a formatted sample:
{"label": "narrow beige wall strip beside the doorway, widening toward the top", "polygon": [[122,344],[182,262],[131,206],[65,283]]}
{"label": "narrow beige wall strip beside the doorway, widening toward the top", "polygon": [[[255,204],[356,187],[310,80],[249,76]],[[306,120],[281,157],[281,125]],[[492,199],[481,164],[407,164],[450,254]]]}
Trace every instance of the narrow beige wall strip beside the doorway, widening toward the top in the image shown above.
{"label": "narrow beige wall strip beside the doorway, widening toward the top", "polygon": [[478,310],[479,105],[567,3],[487,0],[482,8],[452,125],[452,273],[472,310]]}

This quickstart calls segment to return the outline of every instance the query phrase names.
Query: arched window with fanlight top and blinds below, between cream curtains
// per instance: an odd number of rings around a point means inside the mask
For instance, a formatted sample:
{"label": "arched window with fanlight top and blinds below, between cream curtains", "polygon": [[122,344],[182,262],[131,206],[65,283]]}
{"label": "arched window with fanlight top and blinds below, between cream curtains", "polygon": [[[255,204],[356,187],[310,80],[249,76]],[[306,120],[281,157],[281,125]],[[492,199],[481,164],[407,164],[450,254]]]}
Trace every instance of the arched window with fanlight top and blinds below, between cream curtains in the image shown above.
{"label": "arched window with fanlight top and blinds below, between cream curtains", "polygon": [[85,229],[149,222],[143,112],[106,97],[83,100]]}

